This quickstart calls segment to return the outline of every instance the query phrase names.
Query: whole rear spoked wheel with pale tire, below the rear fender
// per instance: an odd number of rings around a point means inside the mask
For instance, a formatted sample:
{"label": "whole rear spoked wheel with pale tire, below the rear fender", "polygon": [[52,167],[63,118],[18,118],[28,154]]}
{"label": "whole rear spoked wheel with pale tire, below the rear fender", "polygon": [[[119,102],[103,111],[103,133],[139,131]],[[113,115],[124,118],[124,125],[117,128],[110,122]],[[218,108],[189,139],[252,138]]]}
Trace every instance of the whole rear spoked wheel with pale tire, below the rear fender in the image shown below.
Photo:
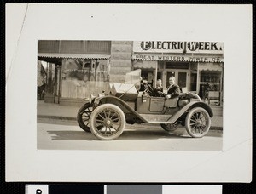
{"label": "whole rear spoked wheel with pale tire, below the rear fender", "polygon": [[185,126],[191,137],[201,138],[208,133],[211,127],[211,119],[205,109],[196,107],[189,111]]}

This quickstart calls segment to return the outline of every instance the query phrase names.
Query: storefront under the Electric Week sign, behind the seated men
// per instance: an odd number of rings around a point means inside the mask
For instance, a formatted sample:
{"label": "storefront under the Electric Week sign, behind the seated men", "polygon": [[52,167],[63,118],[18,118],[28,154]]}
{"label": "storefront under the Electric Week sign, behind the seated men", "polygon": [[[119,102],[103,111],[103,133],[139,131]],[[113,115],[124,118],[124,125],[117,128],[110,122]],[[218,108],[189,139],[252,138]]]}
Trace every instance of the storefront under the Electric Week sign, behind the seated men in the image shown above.
{"label": "storefront under the Electric Week sign, behind the seated men", "polygon": [[184,90],[195,92],[215,105],[223,96],[223,43],[212,42],[133,42],[133,69],[142,69],[142,77],[154,84],[161,79],[168,88],[168,79]]}

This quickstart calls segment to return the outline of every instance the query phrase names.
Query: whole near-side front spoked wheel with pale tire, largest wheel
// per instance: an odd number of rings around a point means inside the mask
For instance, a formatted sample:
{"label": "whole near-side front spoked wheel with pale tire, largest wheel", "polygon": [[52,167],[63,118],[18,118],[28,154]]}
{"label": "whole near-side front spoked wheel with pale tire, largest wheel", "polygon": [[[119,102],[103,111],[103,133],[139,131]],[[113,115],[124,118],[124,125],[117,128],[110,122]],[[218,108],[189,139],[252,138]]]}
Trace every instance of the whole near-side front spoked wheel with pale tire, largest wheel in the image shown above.
{"label": "whole near-side front spoked wheel with pale tire, largest wheel", "polygon": [[90,115],[90,130],[100,140],[114,140],[124,128],[125,114],[113,104],[98,106]]}

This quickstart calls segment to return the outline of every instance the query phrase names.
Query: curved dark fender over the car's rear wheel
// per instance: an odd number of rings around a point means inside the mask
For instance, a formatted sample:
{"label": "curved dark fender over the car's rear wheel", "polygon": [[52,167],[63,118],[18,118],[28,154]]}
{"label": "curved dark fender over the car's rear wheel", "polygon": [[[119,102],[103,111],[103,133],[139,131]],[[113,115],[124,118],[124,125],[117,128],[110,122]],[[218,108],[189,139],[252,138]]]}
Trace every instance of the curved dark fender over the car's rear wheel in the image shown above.
{"label": "curved dark fender over the car's rear wheel", "polygon": [[186,106],[183,106],[183,108],[179,111],[177,111],[172,117],[170,117],[170,119],[168,120],[168,122],[170,123],[174,123],[177,121],[177,119],[179,117],[181,117],[186,111],[189,111],[195,107],[201,107],[203,109],[205,109],[210,117],[213,117],[213,111],[212,108],[210,106],[208,106],[205,102],[202,101],[191,101],[189,102],[189,104],[187,104]]}

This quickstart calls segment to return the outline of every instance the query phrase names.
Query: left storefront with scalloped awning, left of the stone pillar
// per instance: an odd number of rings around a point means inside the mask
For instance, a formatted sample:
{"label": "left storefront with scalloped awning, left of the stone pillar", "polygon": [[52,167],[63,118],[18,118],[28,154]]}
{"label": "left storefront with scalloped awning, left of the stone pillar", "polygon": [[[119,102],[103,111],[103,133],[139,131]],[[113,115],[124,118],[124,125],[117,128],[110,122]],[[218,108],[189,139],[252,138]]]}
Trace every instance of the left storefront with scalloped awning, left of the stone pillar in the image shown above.
{"label": "left storefront with scalloped awning, left of the stone pillar", "polygon": [[45,102],[80,105],[104,90],[110,77],[109,41],[38,41],[38,60],[47,62]]}

